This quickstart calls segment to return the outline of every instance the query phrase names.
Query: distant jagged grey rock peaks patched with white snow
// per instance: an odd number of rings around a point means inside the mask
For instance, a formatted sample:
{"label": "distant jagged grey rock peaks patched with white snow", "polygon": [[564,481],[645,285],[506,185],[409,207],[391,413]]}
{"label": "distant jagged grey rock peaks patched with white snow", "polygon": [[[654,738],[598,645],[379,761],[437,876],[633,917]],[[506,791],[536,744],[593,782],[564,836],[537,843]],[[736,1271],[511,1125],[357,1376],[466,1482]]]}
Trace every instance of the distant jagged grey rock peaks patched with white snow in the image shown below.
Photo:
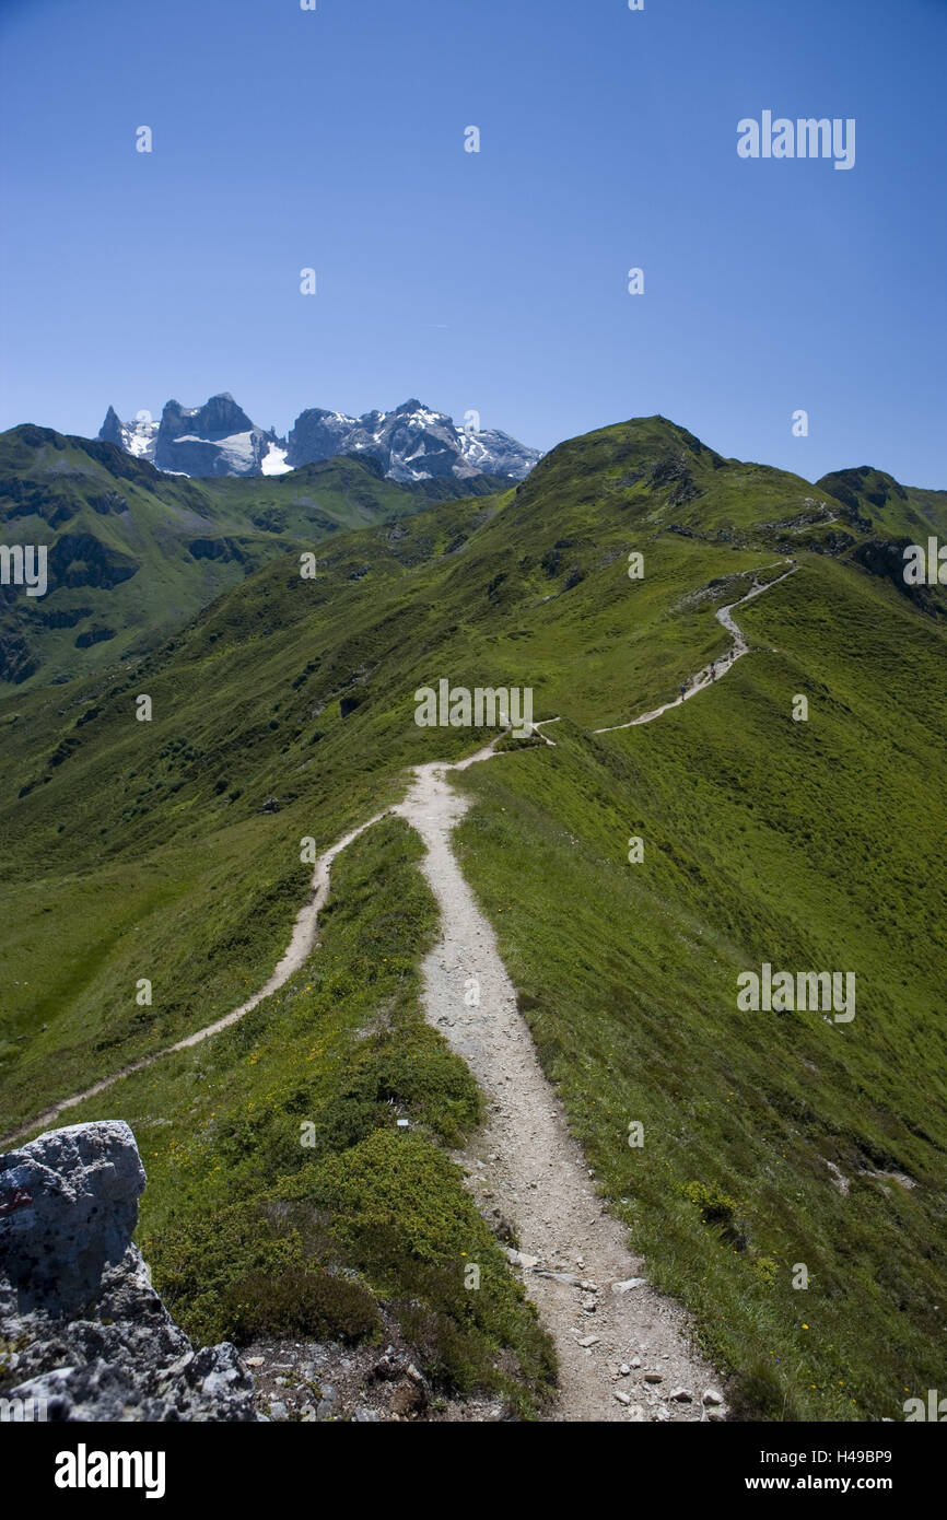
{"label": "distant jagged grey rock peaks patched with white snow", "polygon": [[309,407],[289,436],[257,427],[228,391],[204,406],[167,401],[161,421],[138,412],[123,423],[109,406],[99,438],[158,470],[185,476],[275,476],[339,454],[377,459],[385,476],[403,485],[453,476],[508,476],[523,480],[543,458],[496,429],[458,427],[445,412],[412,398],[394,412],[347,416]]}

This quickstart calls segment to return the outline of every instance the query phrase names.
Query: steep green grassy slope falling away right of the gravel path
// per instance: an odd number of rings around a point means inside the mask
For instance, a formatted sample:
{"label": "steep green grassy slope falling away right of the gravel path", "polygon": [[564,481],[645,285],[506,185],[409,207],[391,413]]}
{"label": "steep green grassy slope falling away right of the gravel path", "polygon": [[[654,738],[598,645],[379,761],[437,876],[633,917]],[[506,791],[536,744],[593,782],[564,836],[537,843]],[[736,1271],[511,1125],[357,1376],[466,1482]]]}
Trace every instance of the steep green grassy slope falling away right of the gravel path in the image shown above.
{"label": "steep green grassy slope falling away right of the gravel path", "polygon": [[[740,617],[759,652],[686,708],[465,772],[462,859],[613,1207],[745,1406],[898,1418],[947,1289],[942,637],[821,559]],[[854,1021],[737,1012],[763,961],[854,970]]]}

